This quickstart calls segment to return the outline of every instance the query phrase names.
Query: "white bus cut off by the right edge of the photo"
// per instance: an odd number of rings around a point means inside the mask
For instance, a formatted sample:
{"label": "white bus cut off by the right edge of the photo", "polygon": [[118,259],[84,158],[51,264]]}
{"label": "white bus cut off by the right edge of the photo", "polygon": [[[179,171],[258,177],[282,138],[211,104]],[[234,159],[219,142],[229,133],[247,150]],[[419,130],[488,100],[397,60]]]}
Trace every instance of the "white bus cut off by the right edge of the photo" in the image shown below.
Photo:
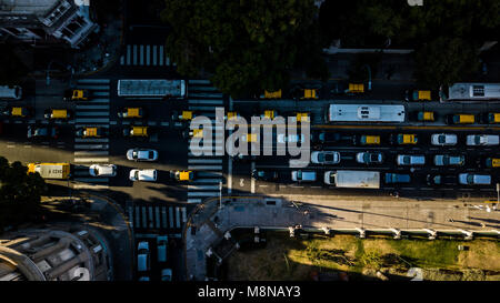
{"label": "white bus cut off by the right edge of the photo", "polygon": [[500,83],[454,83],[447,101],[500,101]]}

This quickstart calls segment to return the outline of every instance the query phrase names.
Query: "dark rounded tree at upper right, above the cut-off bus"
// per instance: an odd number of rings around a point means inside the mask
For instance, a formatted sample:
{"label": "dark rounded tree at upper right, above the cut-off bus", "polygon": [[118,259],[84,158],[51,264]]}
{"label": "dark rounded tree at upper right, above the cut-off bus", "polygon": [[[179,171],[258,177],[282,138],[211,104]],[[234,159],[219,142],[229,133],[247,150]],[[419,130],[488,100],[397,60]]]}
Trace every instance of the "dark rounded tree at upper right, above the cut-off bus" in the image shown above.
{"label": "dark rounded tree at upper right, above the cut-off bus", "polygon": [[479,69],[477,48],[460,38],[438,38],[416,53],[417,80],[431,88],[449,85]]}

